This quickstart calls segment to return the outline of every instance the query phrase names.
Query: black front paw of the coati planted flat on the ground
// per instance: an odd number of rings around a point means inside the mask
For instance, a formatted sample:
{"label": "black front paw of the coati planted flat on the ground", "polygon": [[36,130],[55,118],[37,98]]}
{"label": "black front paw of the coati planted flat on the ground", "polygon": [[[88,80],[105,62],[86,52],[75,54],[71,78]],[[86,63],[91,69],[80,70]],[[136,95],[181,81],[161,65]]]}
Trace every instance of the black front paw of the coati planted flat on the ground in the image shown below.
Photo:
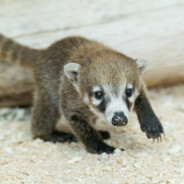
{"label": "black front paw of the coati planted flat on the ground", "polygon": [[101,140],[89,140],[86,145],[87,151],[90,153],[107,153],[112,154],[116,148],[107,145]]}

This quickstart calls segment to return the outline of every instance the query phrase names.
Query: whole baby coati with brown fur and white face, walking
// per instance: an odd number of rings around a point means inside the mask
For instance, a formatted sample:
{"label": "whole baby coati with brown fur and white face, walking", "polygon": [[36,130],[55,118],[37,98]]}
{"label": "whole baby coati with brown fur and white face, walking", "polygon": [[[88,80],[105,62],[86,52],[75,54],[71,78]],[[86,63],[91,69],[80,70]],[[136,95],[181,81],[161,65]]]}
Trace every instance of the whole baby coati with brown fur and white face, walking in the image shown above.
{"label": "whole baby coati with brown fur and white face, walking", "polygon": [[[82,37],[68,37],[45,50],[36,50],[3,35],[0,58],[34,72],[34,138],[52,142],[77,138],[91,153],[113,153],[115,148],[103,142],[108,132],[96,131],[93,120],[124,126],[132,110],[148,138],[161,139],[164,133],[141,79],[146,67],[143,59],[132,59]],[[74,135],[56,131],[61,115]]]}

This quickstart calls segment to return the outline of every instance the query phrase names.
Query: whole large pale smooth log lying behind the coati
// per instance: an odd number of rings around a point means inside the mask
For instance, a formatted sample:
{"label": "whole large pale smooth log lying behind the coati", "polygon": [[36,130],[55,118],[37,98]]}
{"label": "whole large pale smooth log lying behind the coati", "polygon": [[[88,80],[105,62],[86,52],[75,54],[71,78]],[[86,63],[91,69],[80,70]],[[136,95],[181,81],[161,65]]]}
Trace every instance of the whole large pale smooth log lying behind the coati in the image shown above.
{"label": "whole large pale smooth log lying behind the coati", "polygon": [[[144,79],[149,88],[184,82],[181,1],[0,2],[0,32],[22,44],[45,48],[66,36],[80,35],[133,58],[147,59]],[[30,105],[33,88],[31,73],[0,62],[0,107]]]}

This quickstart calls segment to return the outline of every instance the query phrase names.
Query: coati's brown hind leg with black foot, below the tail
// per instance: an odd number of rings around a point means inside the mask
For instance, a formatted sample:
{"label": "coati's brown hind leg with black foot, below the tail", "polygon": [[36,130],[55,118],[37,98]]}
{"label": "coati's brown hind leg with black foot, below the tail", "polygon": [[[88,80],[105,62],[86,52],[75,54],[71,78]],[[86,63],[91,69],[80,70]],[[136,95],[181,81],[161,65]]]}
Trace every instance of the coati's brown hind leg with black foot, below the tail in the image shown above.
{"label": "coati's brown hind leg with black foot, below the tail", "polygon": [[59,97],[55,94],[49,95],[44,89],[39,90],[35,96],[32,113],[31,130],[34,138],[39,137],[51,142],[76,141],[76,137],[72,134],[54,131],[59,118]]}

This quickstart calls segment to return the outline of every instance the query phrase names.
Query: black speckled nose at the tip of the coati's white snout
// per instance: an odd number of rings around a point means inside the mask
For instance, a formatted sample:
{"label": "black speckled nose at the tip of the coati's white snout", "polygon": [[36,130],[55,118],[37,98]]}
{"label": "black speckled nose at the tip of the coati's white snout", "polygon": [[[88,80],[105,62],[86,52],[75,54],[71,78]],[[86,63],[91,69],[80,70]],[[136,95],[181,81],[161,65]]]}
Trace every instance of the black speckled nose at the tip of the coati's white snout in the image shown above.
{"label": "black speckled nose at the tip of the coati's white snout", "polygon": [[112,118],[112,124],[114,126],[125,126],[127,123],[128,119],[123,112],[115,112]]}

